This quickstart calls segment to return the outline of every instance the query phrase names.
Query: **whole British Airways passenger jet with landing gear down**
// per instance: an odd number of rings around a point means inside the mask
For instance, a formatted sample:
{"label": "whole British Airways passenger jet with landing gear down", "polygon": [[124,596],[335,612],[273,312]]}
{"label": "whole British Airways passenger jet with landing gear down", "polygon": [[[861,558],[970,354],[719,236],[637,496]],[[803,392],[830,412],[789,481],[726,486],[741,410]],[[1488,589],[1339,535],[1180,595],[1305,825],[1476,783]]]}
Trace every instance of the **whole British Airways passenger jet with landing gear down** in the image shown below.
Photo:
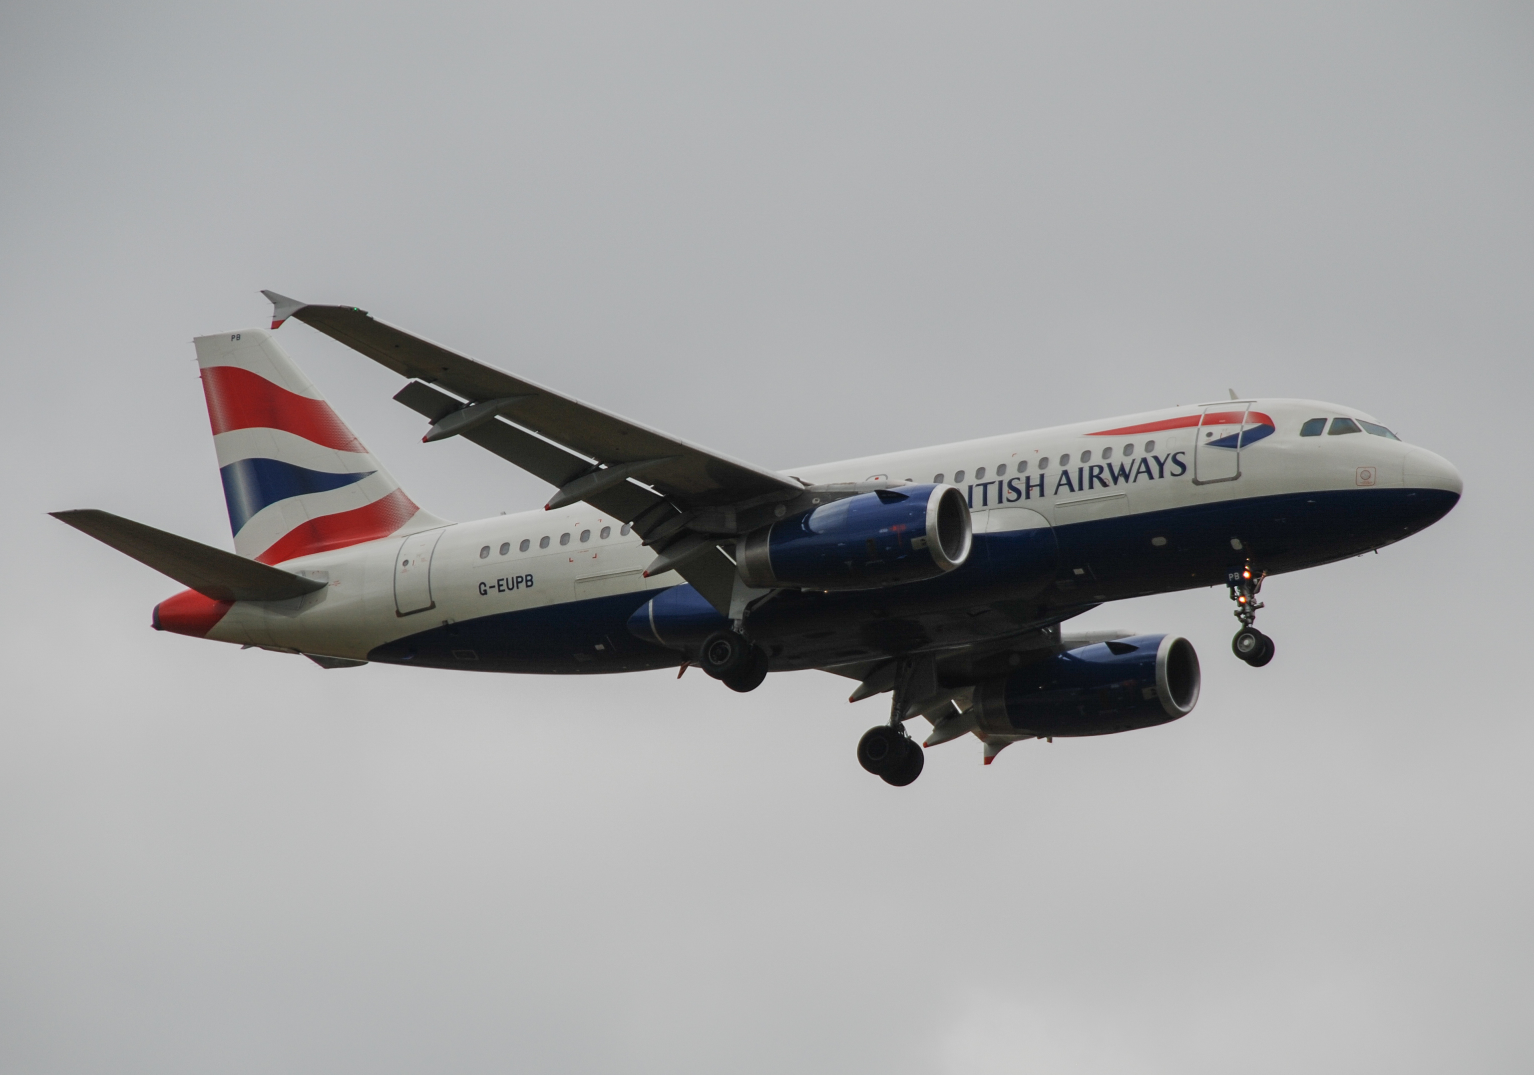
{"label": "whole British Airways passenger jet with landing gear down", "polygon": [[[1062,633],[1104,601],[1226,584],[1252,666],[1267,575],[1379,549],[1442,518],[1456,469],[1348,406],[1229,399],[767,471],[502,373],[356,307],[265,291],[410,379],[394,397],[557,488],[542,511],[419,508],[272,331],[196,342],[235,552],[103,511],[55,517],[189,589],[156,630],[471,672],[700,666],[732,690],[824,669],[891,693],[858,759],[893,785],[973,735],[1175,721],[1198,656],[1170,635]],[[1235,396],[1232,393],[1232,396]]]}

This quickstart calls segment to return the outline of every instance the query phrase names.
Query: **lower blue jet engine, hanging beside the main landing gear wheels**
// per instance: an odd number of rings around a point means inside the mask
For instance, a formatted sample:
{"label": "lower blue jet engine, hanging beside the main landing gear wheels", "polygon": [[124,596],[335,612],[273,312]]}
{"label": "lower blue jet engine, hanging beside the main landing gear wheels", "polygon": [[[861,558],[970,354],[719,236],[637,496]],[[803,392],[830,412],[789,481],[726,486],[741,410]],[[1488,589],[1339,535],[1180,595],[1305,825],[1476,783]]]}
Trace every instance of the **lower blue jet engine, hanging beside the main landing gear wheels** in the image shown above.
{"label": "lower blue jet engine, hanging beside the main landing gear wheels", "polygon": [[1135,635],[1057,653],[976,690],[976,724],[994,735],[1094,736],[1187,716],[1198,653],[1177,635]]}

